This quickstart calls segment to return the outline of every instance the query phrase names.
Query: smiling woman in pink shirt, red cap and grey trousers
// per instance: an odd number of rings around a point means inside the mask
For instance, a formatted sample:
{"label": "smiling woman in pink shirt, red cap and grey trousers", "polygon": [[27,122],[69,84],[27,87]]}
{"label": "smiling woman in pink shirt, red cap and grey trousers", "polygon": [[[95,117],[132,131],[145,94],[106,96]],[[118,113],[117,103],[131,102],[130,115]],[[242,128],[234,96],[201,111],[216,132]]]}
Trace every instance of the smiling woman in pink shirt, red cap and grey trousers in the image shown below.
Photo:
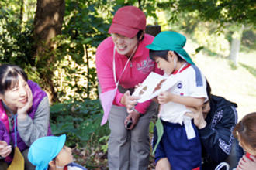
{"label": "smiling woman in pink shirt, red cap and grey trousers", "polygon": [[103,109],[104,104],[112,104],[109,116],[104,110],[111,130],[109,169],[147,169],[149,162],[148,128],[156,104],[151,100],[137,104],[138,98],[131,96],[151,71],[161,73],[145,47],[154,39],[144,33],[145,29],[146,17],[139,8],[119,8],[109,28],[111,37],[96,52],[100,95],[112,95],[105,100],[100,96]]}

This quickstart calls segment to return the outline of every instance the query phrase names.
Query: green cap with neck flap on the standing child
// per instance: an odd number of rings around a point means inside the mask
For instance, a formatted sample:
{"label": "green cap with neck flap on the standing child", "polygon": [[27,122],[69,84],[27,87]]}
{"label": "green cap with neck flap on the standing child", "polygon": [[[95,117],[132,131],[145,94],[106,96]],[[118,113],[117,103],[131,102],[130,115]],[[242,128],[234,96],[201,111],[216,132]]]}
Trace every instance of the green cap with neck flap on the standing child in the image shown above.
{"label": "green cap with neck flap on the standing child", "polygon": [[186,62],[195,65],[189,54],[183,49],[186,38],[178,32],[164,31],[157,34],[153,42],[147,45],[147,49],[154,51],[171,50],[178,53]]}

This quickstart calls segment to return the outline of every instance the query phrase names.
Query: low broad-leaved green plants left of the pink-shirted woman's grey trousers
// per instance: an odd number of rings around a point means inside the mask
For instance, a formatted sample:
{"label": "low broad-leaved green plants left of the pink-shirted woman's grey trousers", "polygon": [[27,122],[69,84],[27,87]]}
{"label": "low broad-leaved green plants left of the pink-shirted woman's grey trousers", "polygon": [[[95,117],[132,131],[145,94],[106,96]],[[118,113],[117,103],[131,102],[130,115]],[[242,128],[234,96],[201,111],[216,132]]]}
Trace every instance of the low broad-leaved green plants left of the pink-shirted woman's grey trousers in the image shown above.
{"label": "low broad-leaved green plants left of the pink-shirted woman's grey trousers", "polygon": [[99,100],[70,100],[50,107],[53,134],[67,134],[68,145],[71,146],[90,148],[105,145],[103,138],[109,134],[109,128],[107,125],[100,126],[101,119]]}

